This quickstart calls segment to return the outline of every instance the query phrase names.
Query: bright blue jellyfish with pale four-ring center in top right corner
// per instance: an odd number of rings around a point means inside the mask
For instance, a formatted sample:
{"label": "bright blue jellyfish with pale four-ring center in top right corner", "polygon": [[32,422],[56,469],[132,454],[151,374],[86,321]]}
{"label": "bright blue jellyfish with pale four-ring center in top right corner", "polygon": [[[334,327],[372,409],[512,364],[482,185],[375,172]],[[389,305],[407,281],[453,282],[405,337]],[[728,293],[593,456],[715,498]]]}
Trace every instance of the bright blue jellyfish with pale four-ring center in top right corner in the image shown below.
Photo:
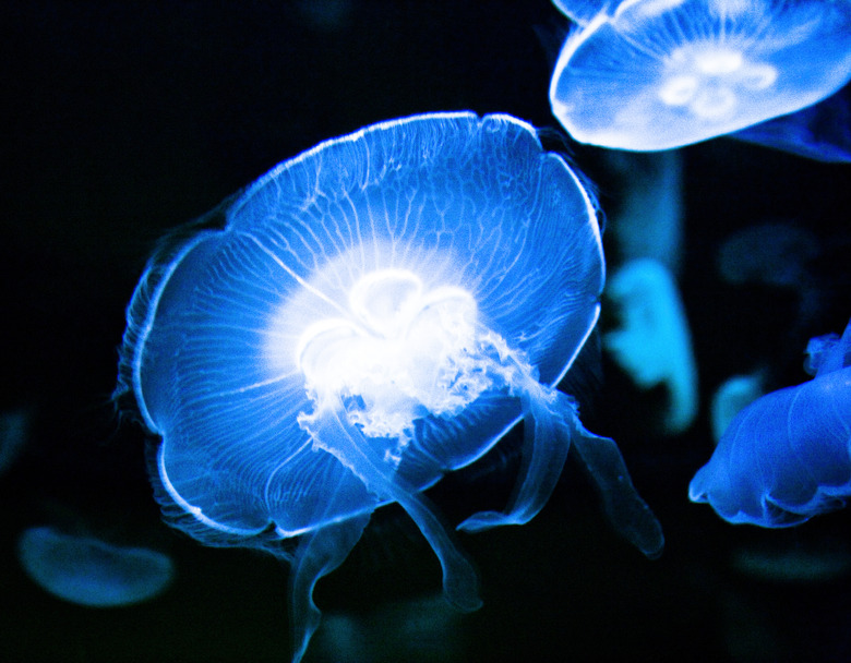
{"label": "bright blue jellyfish with pale four-ring center in top right corner", "polygon": [[851,79],[847,0],[556,7],[578,27],[559,56],[550,103],[580,143],[681,147],[812,106]]}

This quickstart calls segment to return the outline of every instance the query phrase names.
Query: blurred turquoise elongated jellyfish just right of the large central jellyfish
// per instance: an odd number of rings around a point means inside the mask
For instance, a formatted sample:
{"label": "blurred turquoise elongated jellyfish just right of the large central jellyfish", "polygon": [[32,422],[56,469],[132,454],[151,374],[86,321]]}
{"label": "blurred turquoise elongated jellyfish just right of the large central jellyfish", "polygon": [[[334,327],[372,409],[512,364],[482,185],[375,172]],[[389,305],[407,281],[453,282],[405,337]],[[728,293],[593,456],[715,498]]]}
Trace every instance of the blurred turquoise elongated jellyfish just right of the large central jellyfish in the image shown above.
{"label": "blurred turquoise elongated jellyfish just right of the large central jellyfish", "polygon": [[603,336],[603,346],[638,387],[666,386],[663,429],[682,433],[697,414],[697,364],[673,276],[656,261],[635,260],[614,274],[606,293],[620,311],[621,326]]}

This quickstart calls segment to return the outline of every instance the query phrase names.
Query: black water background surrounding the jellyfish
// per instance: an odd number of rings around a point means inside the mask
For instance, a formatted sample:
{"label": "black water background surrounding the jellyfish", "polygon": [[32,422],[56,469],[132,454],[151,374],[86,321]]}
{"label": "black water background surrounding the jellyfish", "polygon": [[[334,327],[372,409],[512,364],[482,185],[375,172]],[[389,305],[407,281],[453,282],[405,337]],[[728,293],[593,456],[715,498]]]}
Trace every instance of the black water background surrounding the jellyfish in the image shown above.
{"label": "black water background surrounding the jellyfish", "polygon": [[[558,128],[547,89],[566,21],[544,0],[353,0],[331,24],[307,5],[0,8],[0,410],[31,413],[28,446],[0,477],[2,661],[287,660],[286,569],[161,525],[143,434],[119,427],[107,405],[124,306],[158,236],[278,161],[376,121],[470,109]],[[851,170],[729,140],[683,154],[681,286],[702,413],[686,434],[656,435],[659,394],[640,394],[608,361],[603,386],[583,395],[586,424],[615,436],[659,517],[664,555],[648,562],[619,539],[568,462],[531,523],[460,537],[484,607],[438,607],[429,625],[428,611],[405,606],[439,591],[436,559],[400,510],[383,509],[319,584],[339,632],[320,631],[308,661],[351,660],[347,619],[376,661],[851,660],[851,513],[764,531],[729,526],[686,497],[711,453],[715,388],[759,362],[776,387],[802,382],[806,339],[848,322]],[[600,184],[603,207],[616,206],[599,152],[577,147],[575,161]],[[793,292],[732,287],[716,273],[724,238],[769,219],[810,228],[822,245],[811,268],[823,301],[805,320]],[[456,522],[482,492],[507,494],[511,461],[492,461],[475,489],[447,481],[433,499]],[[178,577],[134,607],[60,602],[15,559],[19,533],[43,523],[167,552]],[[792,581],[734,564],[787,553],[814,568],[838,559],[844,571]]]}

